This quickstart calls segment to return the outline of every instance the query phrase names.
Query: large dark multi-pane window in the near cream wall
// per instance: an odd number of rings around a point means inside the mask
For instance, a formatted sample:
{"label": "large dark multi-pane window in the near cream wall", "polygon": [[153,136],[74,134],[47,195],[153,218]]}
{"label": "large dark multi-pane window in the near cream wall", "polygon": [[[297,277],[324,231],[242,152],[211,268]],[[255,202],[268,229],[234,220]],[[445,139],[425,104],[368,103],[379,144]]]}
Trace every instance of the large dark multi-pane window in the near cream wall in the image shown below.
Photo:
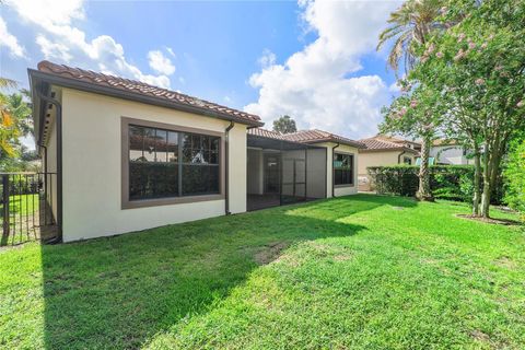
{"label": "large dark multi-pane window in the near cream wall", "polygon": [[219,136],[126,127],[129,201],[220,194]]}

